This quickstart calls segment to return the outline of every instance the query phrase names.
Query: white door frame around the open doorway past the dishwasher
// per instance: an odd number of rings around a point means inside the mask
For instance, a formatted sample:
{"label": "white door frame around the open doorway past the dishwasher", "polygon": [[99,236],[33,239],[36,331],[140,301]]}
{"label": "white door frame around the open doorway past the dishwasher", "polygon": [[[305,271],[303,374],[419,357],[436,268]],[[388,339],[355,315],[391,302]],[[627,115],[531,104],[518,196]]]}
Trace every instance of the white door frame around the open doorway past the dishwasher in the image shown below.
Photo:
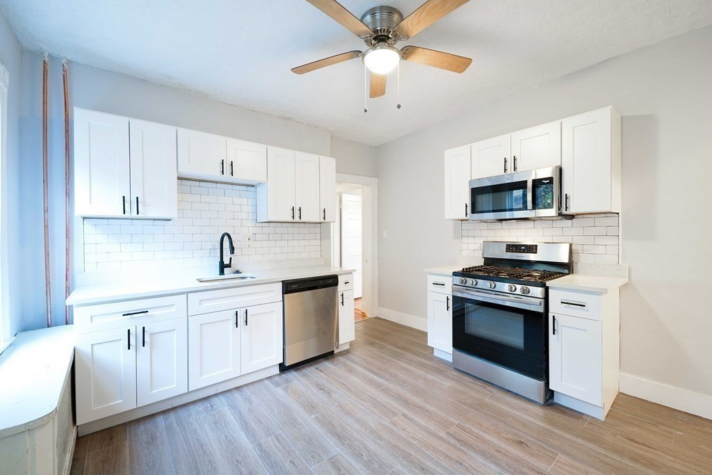
{"label": "white door frame around the open doorway past the dishwasher", "polygon": [[[337,183],[360,184],[362,186],[362,242],[363,242],[363,291],[362,310],[366,315],[375,316],[378,308],[378,179],[345,173],[336,174]],[[331,251],[333,246],[333,223],[321,225],[321,249],[325,264],[334,266]]]}

